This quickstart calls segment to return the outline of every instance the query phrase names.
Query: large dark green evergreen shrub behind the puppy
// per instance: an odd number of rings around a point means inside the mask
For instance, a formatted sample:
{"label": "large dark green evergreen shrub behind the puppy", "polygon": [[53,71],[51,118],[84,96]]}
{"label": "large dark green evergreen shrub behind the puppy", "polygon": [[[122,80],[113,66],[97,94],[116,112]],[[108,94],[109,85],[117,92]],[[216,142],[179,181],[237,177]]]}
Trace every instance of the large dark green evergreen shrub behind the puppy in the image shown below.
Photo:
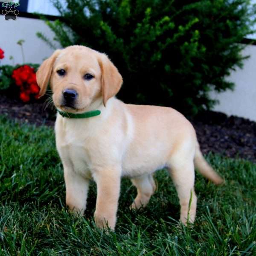
{"label": "large dark green evergreen shrub behind the puppy", "polygon": [[107,53],[124,78],[120,99],[187,114],[216,103],[209,91],[233,88],[225,78],[247,58],[241,42],[255,23],[248,0],[52,2],[62,16],[47,21],[55,40]]}

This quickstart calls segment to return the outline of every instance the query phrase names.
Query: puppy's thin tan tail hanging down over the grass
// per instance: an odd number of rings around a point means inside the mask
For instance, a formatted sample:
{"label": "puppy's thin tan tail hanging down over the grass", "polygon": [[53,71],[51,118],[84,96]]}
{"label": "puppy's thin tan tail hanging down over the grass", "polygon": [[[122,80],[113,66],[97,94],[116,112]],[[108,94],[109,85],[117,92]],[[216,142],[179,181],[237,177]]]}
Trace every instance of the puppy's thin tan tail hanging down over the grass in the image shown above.
{"label": "puppy's thin tan tail hanging down over the grass", "polygon": [[195,168],[198,172],[201,173],[204,177],[211,180],[216,185],[224,183],[224,180],[215,172],[211,166],[204,159],[203,154],[201,153],[199,144],[197,143],[195,149],[195,158],[194,158]]}

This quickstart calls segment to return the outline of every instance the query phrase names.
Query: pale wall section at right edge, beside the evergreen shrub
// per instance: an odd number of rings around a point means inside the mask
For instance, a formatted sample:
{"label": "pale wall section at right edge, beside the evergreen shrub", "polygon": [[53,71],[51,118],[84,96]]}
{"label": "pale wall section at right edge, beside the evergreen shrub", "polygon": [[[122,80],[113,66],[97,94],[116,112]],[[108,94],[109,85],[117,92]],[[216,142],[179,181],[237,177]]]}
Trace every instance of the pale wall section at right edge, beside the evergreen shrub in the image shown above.
{"label": "pale wall section at right edge, beside the evergreen shrub", "polygon": [[211,93],[211,97],[220,102],[215,111],[256,121],[256,46],[247,46],[242,55],[250,58],[244,60],[243,69],[233,71],[228,78],[236,84],[234,91]]}

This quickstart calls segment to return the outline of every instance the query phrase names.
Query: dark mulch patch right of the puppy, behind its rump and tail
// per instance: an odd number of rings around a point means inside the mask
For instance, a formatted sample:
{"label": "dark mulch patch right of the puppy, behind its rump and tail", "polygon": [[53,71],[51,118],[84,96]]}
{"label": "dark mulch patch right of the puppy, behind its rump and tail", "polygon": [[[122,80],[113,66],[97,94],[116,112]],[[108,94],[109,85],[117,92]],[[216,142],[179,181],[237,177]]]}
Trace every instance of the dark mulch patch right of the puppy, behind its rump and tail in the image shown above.
{"label": "dark mulch patch right of the puppy, behind its rump and tail", "polygon": [[214,111],[205,111],[190,121],[204,154],[211,151],[256,163],[256,122]]}

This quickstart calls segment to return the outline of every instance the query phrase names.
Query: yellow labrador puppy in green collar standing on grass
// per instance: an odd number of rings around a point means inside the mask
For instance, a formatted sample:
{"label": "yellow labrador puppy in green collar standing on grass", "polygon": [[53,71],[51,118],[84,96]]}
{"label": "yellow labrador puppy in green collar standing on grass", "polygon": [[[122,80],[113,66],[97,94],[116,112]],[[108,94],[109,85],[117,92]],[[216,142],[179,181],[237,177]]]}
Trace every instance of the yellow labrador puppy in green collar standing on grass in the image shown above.
{"label": "yellow labrador puppy in green collar standing on grass", "polygon": [[58,110],[56,145],[72,211],[84,212],[93,178],[96,224],[114,230],[121,177],[131,177],[137,187],[131,208],[138,209],[148,204],[156,189],[153,173],[166,167],[180,200],[180,221],[195,220],[195,167],[215,184],[223,180],[204,160],[195,130],[182,114],[116,99],[122,76],[105,54],[84,46],[56,50],[36,75],[40,95],[50,81]]}

